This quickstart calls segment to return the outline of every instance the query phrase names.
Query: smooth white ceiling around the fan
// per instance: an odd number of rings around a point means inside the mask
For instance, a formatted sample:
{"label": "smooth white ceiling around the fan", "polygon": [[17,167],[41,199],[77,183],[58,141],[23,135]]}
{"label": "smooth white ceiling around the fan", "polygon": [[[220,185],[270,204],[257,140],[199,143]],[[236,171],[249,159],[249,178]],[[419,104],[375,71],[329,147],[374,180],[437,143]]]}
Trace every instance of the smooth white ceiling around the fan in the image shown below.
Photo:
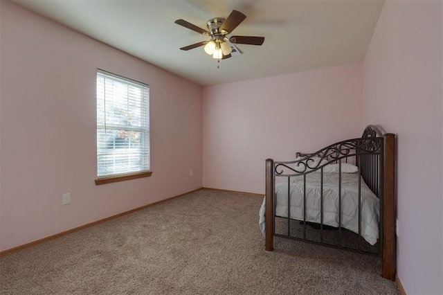
{"label": "smooth white ceiling around the fan", "polygon": [[[200,85],[296,73],[362,62],[383,0],[10,0]],[[265,37],[237,45],[242,55],[220,61],[179,48],[209,37],[200,28],[235,9],[247,17],[232,35]]]}

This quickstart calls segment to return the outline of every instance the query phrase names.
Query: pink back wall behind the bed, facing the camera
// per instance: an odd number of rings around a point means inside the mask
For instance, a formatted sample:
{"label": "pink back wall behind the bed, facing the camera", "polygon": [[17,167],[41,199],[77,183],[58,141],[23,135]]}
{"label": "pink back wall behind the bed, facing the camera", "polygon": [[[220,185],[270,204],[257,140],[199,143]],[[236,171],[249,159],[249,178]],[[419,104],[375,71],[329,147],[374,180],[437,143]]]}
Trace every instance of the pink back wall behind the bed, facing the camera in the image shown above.
{"label": "pink back wall behind the bed, facing the camera", "polygon": [[361,136],[362,64],[204,87],[203,186],[264,193],[266,158]]}

